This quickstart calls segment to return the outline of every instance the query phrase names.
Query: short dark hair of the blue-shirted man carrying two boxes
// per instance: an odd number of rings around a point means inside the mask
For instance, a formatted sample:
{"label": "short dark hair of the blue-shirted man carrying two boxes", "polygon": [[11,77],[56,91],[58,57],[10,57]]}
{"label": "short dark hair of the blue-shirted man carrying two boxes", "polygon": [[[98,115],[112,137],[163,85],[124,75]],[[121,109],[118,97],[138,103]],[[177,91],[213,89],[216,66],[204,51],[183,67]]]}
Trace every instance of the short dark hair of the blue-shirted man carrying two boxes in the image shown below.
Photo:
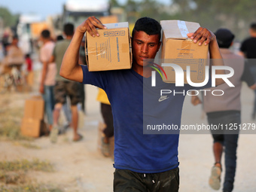
{"label": "short dark hair of the blue-shirted man carrying two boxes", "polygon": [[159,35],[159,41],[161,38],[161,26],[157,20],[154,20],[149,17],[142,17],[136,21],[133,28],[133,35],[135,32],[145,32],[148,35]]}

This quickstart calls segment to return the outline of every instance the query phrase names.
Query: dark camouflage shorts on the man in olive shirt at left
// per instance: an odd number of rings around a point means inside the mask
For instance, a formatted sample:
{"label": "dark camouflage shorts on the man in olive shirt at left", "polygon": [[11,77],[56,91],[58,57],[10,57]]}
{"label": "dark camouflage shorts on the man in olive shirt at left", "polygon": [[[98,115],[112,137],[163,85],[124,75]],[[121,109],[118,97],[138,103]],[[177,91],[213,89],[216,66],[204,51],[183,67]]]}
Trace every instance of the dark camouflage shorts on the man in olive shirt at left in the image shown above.
{"label": "dark camouflage shorts on the man in olive shirt at left", "polygon": [[66,96],[69,96],[71,105],[81,102],[81,90],[79,83],[75,81],[56,81],[54,86],[54,99],[56,103],[66,103]]}

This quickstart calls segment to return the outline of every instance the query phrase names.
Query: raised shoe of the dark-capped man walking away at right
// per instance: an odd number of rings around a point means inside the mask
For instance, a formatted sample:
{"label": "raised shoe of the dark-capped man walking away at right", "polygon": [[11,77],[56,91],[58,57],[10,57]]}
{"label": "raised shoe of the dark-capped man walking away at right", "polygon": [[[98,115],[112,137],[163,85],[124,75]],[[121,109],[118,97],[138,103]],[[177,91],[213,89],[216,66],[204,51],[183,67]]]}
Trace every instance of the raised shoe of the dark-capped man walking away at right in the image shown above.
{"label": "raised shoe of the dark-capped man walking away at right", "polygon": [[221,187],[221,167],[216,166],[217,163],[212,167],[211,176],[209,178],[209,185],[214,190],[219,190]]}

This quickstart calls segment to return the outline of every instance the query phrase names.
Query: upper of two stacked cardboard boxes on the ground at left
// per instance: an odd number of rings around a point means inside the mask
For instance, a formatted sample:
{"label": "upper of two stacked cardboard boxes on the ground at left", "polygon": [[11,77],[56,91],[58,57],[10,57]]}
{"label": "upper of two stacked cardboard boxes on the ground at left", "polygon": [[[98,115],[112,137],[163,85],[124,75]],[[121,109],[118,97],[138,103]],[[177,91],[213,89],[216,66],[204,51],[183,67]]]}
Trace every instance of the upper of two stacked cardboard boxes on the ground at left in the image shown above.
{"label": "upper of two stacked cardboard boxes on the ground at left", "polygon": [[24,118],[44,119],[44,99],[41,96],[32,96],[32,98],[26,99]]}

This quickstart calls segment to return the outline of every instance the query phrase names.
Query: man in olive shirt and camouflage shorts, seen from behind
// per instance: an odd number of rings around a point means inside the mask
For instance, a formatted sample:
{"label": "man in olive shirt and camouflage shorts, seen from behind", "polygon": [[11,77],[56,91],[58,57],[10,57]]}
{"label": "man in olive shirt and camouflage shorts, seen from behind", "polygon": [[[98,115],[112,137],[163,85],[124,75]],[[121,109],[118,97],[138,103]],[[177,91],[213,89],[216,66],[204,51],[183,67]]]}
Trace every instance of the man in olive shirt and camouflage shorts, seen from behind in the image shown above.
{"label": "man in olive shirt and camouflage shorts, seen from behind", "polygon": [[62,105],[66,103],[66,96],[69,96],[71,102],[72,111],[72,128],[73,128],[73,141],[80,141],[83,136],[78,133],[78,103],[81,102],[81,93],[79,90],[79,84],[74,81],[68,81],[59,75],[60,66],[62,63],[62,58],[66,49],[74,35],[74,25],[72,23],[66,23],[64,25],[64,38],[62,41],[57,41],[53,49],[53,55],[51,57],[52,61],[56,62],[56,85],[54,87],[54,98],[55,106],[53,110],[53,130],[50,132],[50,141],[55,143],[57,140],[57,135],[59,133],[59,114],[62,109]]}

